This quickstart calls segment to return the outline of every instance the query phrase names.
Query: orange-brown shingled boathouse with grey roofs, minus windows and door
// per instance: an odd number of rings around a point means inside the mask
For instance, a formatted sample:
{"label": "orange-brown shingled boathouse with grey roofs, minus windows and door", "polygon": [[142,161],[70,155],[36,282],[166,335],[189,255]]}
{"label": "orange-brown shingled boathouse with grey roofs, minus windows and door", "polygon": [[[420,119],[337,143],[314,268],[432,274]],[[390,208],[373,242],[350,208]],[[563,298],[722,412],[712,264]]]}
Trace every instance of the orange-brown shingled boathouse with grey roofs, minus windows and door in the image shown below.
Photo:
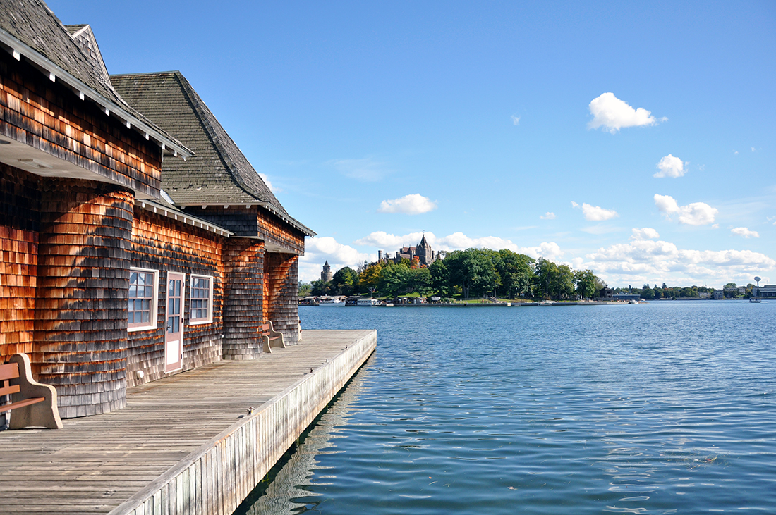
{"label": "orange-brown shingled boathouse with grey roofs, minus windows and door", "polygon": [[[0,363],[29,354],[61,417],[123,407],[127,387],[169,374],[169,273],[185,274],[171,373],[261,357],[267,319],[296,343],[298,259],[314,233],[188,81],[109,77],[91,29],[65,28],[40,0],[0,0],[0,12]],[[156,304],[153,323],[128,329],[136,269],[156,278]],[[192,274],[212,286],[212,317],[195,323]]]}

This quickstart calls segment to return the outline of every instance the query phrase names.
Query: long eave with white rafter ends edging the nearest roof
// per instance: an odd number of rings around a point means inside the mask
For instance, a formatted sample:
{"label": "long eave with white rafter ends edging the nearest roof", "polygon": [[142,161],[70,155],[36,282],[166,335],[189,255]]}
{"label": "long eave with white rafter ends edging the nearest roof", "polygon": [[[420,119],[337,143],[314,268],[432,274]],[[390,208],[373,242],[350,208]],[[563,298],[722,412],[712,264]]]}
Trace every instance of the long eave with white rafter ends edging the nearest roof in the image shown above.
{"label": "long eave with white rafter ends edging the nearest roof", "polygon": [[161,134],[157,128],[143,122],[132,113],[127,112],[125,108],[116,104],[116,102],[105,98],[98,91],[95,91],[94,88],[88,86],[88,84],[84,84],[77,77],[74,77],[73,74],[64,70],[64,68],[59,65],[54,64],[47,57],[43,56],[43,54],[34,50],[26,43],[23,43],[23,41],[15,36],[12,36],[12,34],[9,34],[4,29],[0,29],[0,45],[4,46],[16,60],[21,60],[21,57],[24,56],[30,64],[33,64],[33,66],[48,73],[49,79],[52,82],[57,80],[60,81],[62,84],[73,90],[74,94],[81,98],[81,100],[89,98],[96,105],[99,105],[107,116],[113,115],[116,118],[119,118],[120,121],[126,125],[127,129],[135,129],[145,136],[146,139],[153,139],[154,142],[157,142],[158,145],[161,146],[162,153],[167,153],[167,155],[175,157],[182,157],[184,160],[194,155],[192,150],[186,148],[180,142],[176,142]]}

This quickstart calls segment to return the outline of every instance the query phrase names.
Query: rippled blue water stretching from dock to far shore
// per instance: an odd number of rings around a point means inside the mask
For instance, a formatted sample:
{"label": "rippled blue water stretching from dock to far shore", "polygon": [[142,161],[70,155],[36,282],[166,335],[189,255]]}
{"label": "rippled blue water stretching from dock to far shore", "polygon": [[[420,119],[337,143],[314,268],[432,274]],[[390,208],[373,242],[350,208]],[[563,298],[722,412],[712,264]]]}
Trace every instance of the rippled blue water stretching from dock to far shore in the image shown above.
{"label": "rippled blue water stretching from dock to far shore", "polygon": [[378,349],[242,513],[776,513],[776,302],[300,317]]}

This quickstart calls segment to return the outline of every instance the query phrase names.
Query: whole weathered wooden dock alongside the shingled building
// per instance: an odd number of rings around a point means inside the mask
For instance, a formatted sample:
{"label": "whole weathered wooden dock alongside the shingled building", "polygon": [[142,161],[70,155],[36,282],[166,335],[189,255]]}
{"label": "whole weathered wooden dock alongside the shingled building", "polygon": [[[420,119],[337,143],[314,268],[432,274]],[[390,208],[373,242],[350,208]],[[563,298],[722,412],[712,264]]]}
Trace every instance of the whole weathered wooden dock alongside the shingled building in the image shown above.
{"label": "whole weathered wooden dock alongside the shingled building", "polygon": [[299,345],[261,359],[127,390],[123,410],[61,430],[0,431],[0,514],[230,515],[376,339],[304,331]]}

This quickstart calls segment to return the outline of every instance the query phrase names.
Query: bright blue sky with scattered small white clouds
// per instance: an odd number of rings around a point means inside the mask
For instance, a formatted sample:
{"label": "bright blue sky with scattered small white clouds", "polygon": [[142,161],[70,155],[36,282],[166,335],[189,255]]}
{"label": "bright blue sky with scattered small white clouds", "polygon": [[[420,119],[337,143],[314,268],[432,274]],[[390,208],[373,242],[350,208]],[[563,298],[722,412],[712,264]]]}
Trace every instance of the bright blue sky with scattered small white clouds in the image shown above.
{"label": "bright blue sky with scattered small white clouds", "polygon": [[318,236],[300,276],[484,246],[611,286],[776,283],[776,2],[78,2],[181,70]]}

